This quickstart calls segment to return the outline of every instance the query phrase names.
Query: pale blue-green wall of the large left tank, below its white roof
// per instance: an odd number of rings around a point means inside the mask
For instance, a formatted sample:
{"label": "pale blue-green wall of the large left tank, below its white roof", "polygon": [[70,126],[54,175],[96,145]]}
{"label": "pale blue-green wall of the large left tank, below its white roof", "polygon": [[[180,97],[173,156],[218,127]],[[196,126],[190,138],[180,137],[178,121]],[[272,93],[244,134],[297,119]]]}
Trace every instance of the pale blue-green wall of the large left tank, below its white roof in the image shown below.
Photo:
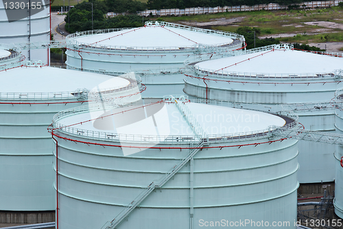
{"label": "pale blue-green wall of the large left tank, below its white roof", "polygon": [[47,127],[55,113],[75,104],[1,102],[32,105],[0,104],[0,210],[54,210],[53,144]]}

